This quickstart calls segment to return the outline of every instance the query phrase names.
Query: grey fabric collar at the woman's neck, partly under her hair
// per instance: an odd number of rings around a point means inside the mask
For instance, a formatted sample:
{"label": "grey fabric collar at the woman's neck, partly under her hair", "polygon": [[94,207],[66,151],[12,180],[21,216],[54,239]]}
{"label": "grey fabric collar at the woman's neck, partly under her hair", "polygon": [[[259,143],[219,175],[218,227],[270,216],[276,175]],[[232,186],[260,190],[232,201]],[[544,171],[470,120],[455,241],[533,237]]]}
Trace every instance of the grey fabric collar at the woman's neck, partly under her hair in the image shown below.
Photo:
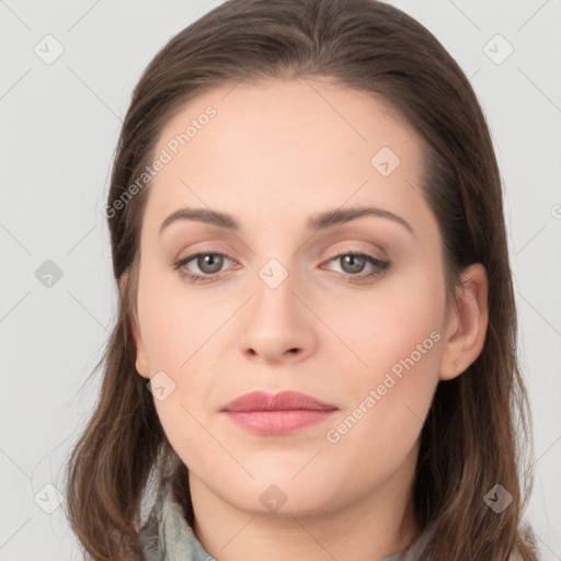
{"label": "grey fabric collar at the woman's neck, partly under her hair", "polygon": [[[408,550],[379,561],[416,561],[431,534],[431,530],[425,529]],[[175,502],[170,483],[158,492],[148,519],[140,528],[140,543],[145,561],[216,561],[185,520],[182,506]]]}

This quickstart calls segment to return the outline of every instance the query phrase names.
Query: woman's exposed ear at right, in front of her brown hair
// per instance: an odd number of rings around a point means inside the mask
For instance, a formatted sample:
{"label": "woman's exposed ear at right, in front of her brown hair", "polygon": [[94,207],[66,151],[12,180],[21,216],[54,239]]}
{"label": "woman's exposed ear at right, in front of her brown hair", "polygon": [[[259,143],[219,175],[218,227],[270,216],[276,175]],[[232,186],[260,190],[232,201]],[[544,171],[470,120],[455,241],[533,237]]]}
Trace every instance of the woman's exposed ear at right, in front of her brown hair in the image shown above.
{"label": "woman's exposed ear at right, in front of her brown hair", "polygon": [[489,322],[488,278],[482,264],[474,263],[461,273],[444,329],[440,380],[459,376],[480,355]]}

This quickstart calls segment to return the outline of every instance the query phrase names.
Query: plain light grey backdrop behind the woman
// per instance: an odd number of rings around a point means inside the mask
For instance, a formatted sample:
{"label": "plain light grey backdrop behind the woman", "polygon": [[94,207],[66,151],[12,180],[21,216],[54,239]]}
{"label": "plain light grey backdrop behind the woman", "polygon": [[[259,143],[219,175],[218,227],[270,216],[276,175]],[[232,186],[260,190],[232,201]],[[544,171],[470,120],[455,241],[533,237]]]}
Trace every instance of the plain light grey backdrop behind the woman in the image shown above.
{"label": "plain light grey backdrop behind the woman", "polygon": [[[101,209],[122,117],[157,50],[219,3],[0,0],[0,560],[80,559],[64,508],[45,508],[64,490],[64,462],[96,400],[100,379],[85,378],[114,321]],[[458,60],[489,119],[535,424],[525,517],[542,559],[560,560],[561,0],[392,3]],[[34,51],[56,54],[47,34],[64,47],[51,64]],[[47,260],[62,272],[49,288],[36,277]]]}

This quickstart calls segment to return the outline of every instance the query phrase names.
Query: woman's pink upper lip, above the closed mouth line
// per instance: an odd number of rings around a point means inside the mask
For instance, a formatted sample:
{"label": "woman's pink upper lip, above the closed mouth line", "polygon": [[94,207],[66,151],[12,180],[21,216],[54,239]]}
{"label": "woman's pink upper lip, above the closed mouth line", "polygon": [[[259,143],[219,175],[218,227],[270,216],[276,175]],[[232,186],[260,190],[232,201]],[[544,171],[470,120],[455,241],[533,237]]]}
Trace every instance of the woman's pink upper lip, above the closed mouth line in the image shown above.
{"label": "woman's pink upper lip, above the closed mouth line", "polygon": [[230,401],[222,411],[289,411],[296,409],[331,411],[337,408],[299,391],[280,391],[275,394],[265,391],[251,391]]}

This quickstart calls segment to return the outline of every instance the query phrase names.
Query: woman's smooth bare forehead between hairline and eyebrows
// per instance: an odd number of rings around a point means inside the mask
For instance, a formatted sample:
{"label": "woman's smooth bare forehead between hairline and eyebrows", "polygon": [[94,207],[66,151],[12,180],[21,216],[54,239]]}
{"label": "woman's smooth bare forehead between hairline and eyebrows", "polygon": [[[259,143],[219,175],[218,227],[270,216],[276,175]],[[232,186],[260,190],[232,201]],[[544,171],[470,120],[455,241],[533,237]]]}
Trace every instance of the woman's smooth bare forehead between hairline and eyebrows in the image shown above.
{"label": "woman's smooth bare forehead between hairline and eyebrows", "polygon": [[280,225],[345,201],[405,215],[421,203],[414,129],[389,104],[325,78],[205,92],[164,126],[159,154],[146,213],[160,222],[181,206]]}

